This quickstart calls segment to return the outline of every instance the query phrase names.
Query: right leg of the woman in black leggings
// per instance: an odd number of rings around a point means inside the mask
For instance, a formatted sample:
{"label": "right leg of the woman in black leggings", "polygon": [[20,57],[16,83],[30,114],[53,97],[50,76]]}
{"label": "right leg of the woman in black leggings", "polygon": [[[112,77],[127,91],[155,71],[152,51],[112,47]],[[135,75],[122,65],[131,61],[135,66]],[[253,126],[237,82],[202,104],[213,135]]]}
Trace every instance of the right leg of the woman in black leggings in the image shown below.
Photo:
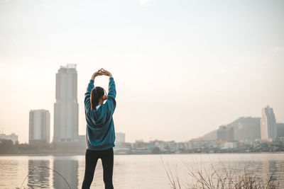
{"label": "right leg of the woman in black leggings", "polygon": [[114,150],[107,149],[102,151],[102,168],[104,170],[104,187],[105,189],[114,189],[112,185],[112,173],[114,170]]}

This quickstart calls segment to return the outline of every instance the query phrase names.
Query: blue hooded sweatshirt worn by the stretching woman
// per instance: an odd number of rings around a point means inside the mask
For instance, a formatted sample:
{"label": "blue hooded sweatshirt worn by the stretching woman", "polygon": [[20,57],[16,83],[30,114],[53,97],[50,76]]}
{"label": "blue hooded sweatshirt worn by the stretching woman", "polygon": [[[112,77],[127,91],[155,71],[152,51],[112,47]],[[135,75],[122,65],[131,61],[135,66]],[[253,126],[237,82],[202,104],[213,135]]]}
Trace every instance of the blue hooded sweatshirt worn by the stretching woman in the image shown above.
{"label": "blue hooded sweatshirt worn by the stretching woman", "polygon": [[86,140],[87,149],[104,150],[114,147],[114,120],[112,115],[116,108],[116,87],[114,78],[109,79],[109,93],[107,102],[103,103],[97,110],[92,110],[90,95],[94,88],[94,80],[89,81],[87,92],[84,94],[84,112],[86,115]]}

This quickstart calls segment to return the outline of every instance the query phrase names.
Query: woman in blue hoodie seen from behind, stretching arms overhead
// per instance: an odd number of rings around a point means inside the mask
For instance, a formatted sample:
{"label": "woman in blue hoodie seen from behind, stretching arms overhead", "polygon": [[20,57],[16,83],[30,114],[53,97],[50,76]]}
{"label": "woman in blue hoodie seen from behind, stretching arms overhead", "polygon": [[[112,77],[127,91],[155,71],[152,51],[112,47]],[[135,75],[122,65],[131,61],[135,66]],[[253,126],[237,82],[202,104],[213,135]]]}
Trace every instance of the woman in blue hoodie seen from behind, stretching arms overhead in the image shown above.
{"label": "woman in blue hoodie seen from behind, stretching arms overhead", "polygon": [[[109,93],[105,94],[104,88],[95,87],[94,79],[97,76],[109,76]],[[86,140],[85,172],[82,189],[89,188],[94,178],[94,170],[98,159],[102,159],[104,170],[104,186],[113,189],[112,173],[114,169],[114,120],[112,115],[116,108],[116,87],[111,73],[99,69],[92,75],[84,98],[86,115]],[[104,103],[106,101],[106,103]]]}

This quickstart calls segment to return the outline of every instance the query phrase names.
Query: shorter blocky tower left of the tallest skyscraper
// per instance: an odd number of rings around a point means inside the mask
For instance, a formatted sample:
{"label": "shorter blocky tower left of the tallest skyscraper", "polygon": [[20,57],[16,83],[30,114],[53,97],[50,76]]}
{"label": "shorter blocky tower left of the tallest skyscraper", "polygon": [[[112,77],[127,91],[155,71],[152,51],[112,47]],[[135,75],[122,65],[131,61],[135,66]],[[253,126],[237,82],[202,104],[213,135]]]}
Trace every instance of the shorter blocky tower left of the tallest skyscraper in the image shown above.
{"label": "shorter blocky tower left of the tallest skyscraper", "polygon": [[29,144],[50,142],[50,113],[48,110],[30,110]]}

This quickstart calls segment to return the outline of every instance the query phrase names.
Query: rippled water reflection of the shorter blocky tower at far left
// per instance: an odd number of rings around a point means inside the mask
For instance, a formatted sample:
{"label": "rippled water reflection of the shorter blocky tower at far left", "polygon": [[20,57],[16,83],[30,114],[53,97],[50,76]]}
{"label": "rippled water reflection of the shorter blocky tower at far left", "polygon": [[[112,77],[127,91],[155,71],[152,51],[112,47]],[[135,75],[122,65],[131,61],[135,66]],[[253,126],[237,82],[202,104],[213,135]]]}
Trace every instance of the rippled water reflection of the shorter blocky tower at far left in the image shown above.
{"label": "rippled water reflection of the shorter blocky tower at far left", "polygon": [[28,188],[50,188],[50,170],[47,168],[37,168],[38,166],[50,167],[49,160],[28,160],[28,172],[35,170],[28,175]]}

